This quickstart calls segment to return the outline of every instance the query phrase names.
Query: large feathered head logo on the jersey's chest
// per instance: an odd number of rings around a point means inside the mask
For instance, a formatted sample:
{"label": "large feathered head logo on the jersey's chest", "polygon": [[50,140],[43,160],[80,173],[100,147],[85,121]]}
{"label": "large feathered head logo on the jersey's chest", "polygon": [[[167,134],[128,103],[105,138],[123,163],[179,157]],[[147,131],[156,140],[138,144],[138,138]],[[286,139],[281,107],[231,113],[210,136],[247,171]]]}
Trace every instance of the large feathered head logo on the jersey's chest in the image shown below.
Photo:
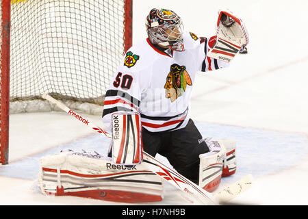
{"label": "large feathered head logo on the jersey's chest", "polygon": [[166,98],[170,99],[171,102],[175,101],[185,92],[188,85],[192,86],[192,79],[190,79],[185,66],[172,64],[164,86]]}

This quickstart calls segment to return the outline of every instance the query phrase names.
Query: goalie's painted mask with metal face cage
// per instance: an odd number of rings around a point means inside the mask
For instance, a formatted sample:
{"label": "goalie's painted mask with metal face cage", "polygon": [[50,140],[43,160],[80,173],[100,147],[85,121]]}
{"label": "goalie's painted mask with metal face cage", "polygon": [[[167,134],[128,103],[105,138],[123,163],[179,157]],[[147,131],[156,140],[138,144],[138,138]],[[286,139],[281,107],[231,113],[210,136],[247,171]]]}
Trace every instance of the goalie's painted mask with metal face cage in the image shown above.
{"label": "goalie's painted mask with metal face cage", "polygon": [[146,17],[146,32],[152,44],[169,47],[174,51],[184,51],[183,23],[175,12],[152,9]]}

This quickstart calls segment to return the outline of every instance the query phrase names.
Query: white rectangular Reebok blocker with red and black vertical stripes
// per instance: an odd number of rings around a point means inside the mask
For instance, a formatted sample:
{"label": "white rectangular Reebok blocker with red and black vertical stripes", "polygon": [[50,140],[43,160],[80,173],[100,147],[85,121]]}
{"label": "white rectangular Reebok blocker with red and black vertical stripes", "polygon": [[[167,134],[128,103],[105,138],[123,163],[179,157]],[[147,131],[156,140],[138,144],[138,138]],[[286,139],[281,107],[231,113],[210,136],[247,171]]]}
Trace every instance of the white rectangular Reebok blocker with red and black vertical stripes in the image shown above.
{"label": "white rectangular Reebok blocker with red and black vertical stripes", "polygon": [[112,114],[112,161],[135,165],[142,162],[141,120],[138,112]]}

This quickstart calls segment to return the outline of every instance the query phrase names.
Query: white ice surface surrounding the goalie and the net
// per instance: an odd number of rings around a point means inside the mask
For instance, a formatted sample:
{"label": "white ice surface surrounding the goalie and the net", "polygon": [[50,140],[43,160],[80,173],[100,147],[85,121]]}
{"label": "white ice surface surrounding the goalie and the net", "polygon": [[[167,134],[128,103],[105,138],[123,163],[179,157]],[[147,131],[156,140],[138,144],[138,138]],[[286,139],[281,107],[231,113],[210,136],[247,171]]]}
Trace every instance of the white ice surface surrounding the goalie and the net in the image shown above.
{"label": "white ice surface surrounding the goalie and the net", "polygon": [[[248,173],[254,177],[252,188],[234,203],[308,205],[307,6],[301,0],[133,3],[133,42],[146,38],[144,20],[156,7],[175,10],[185,29],[197,36],[215,34],[221,8],[246,23],[248,54],[237,55],[230,68],[198,73],[190,101],[192,119],[205,137],[238,141],[237,173],[223,178],[220,188]],[[86,116],[101,125],[101,116]],[[0,205],[123,205],[47,197],[35,189],[35,177],[29,177],[37,169],[23,172],[40,155],[65,146],[103,144],[100,138],[62,112],[12,114],[10,164],[0,166]],[[171,185],[166,190],[164,201],[151,205],[188,204]]]}

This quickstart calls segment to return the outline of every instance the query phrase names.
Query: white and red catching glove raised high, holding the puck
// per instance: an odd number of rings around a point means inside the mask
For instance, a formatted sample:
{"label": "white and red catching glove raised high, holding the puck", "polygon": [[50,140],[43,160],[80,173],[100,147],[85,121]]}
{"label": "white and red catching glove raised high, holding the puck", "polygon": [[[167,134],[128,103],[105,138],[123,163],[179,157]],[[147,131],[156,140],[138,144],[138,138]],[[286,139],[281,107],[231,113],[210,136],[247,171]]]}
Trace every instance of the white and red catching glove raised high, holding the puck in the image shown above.
{"label": "white and red catching glove raised high, holding the puck", "polygon": [[228,10],[218,12],[217,39],[208,57],[231,62],[233,57],[249,42],[248,32],[243,21]]}

